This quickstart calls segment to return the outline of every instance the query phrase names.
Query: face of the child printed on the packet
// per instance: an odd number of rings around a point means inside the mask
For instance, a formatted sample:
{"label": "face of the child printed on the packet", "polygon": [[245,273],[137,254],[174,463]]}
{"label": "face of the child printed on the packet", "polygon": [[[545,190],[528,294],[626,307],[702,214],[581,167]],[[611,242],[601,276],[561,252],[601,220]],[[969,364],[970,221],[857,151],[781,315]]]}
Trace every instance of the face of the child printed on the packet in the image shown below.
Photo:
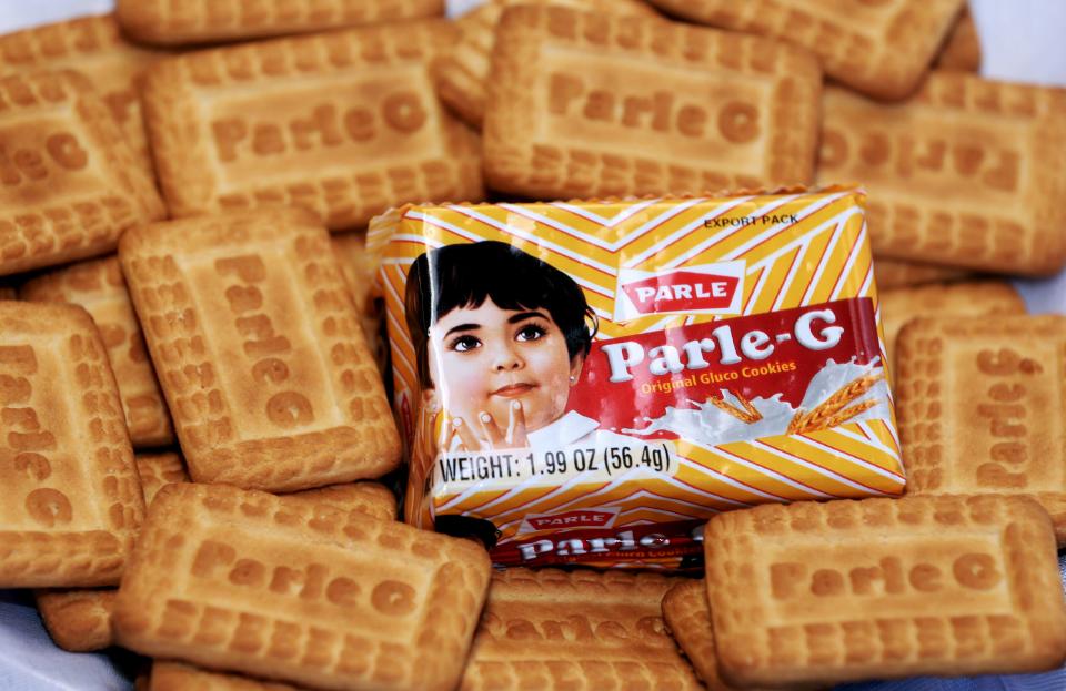
{"label": "face of the child printed on the packet", "polygon": [[566,339],[544,308],[501,309],[491,298],[456,307],[430,328],[430,370],[452,418],[474,425],[482,413],[505,428],[514,402],[525,427],[540,429],[566,408],[571,376]]}

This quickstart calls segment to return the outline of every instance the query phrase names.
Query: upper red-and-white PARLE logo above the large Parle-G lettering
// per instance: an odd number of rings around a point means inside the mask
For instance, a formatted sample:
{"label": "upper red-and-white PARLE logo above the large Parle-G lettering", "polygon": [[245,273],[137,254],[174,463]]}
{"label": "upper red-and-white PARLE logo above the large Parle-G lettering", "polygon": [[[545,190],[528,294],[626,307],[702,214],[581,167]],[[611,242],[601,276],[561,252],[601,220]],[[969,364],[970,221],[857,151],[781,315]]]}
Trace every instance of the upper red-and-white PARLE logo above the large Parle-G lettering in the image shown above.
{"label": "upper red-and-white PARLE logo above the large Parle-G lettering", "polygon": [[623,268],[614,319],[650,314],[740,314],[744,262],[720,262],[663,271]]}

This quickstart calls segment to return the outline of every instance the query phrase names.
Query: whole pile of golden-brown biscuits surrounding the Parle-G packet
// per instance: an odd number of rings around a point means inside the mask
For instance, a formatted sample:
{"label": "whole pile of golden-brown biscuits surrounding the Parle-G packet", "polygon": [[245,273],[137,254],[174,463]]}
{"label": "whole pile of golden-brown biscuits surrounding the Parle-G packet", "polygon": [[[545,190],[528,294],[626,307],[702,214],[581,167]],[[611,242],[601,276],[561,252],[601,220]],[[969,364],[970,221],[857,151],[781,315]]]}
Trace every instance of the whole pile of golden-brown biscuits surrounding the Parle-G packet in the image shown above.
{"label": "whole pile of golden-brown biscuits surrounding the Parle-G packet", "polygon": [[[118,0],[0,37],[0,588],[147,688],[817,688],[1066,658],[1066,90],[964,0]],[[370,219],[859,182],[902,499],[705,578],[396,520]],[[43,339],[43,341],[42,341]]]}

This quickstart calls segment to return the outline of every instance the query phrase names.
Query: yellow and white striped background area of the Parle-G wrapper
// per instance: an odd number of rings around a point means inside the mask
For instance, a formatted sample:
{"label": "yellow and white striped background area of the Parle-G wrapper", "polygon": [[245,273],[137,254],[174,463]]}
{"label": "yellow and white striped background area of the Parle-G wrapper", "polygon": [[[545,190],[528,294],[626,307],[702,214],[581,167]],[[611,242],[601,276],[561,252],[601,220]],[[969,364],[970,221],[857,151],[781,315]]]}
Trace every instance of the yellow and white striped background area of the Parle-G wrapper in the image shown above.
{"label": "yellow and white striped background area of the Parle-G wrapper", "polygon": [[[444,245],[502,241],[581,286],[599,318],[597,342],[865,297],[876,323],[876,332],[871,328],[874,350],[885,363],[864,203],[861,190],[824,187],[722,197],[409,205],[375,219],[368,246],[381,257],[378,287],[386,305],[394,405],[410,451],[406,520],[425,528],[444,515],[490,521],[496,530],[494,557],[507,549],[514,556],[516,546],[526,545],[517,550],[523,563],[675,568],[694,550],[683,539],[656,534],[655,526],[698,526],[718,511],[770,501],[903,494],[904,468],[886,386],[883,414],[873,418],[723,444],[675,438],[668,443],[668,469],[636,465],[606,474],[577,471],[571,463],[567,471],[551,476],[442,481],[434,468],[446,410],[420,405],[418,364],[404,317],[408,271],[419,255]],[[742,294],[732,314],[616,321],[623,272],[725,262],[743,263]],[[601,515],[606,539],[590,540],[581,532],[567,539],[565,520],[552,525],[552,516],[581,517],[582,511],[593,517],[592,525]],[[547,520],[531,525],[530,516]],[[577,525],[590,525],[585,518]],[[697,543],[700,529],[690,538]]]}

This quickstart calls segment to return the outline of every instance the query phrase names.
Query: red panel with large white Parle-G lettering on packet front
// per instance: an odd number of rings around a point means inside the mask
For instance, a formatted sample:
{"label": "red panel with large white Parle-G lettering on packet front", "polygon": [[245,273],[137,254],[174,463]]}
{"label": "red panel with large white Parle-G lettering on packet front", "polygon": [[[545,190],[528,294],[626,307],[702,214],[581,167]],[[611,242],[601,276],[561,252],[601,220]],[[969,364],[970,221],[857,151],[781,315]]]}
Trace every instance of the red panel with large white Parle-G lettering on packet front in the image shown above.
{"label": "red panel with large white Parle-G lettering on packet front", "polygon": [[[862,376],[879,355],[866,297],[720,319],[594,343],[569,408],[614,431],[677,438],[664,416],[713,402],[726,414],[787,416],[776,431],[760,429],[786,434],[801,408]],[[836,376],[826,372],[834,365]],[[607,398],[613,405],[603,405]],[[660,430],[648,433],[656,421]]]}

